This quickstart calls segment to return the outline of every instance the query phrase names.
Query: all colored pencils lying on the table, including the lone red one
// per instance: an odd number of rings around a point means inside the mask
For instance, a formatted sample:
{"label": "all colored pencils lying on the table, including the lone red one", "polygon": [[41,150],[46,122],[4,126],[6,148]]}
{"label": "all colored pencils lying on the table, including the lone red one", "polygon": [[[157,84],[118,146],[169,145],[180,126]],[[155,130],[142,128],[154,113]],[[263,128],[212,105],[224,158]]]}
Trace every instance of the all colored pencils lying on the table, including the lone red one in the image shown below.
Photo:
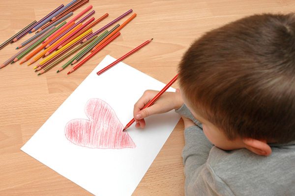
{"label": "all colored pencils lying on the table, including the lone red one", "polygon": [[[7,66],[9,63],[12,64],[20,60],[20,64],[28,61],[29,66],[43,58],[33,67],[35,72],[38,72],[38,75],[40,75],[46,73],[72,56],[57,70],[57,73],[59,73],[69,65],[78,63],[72,67],[67,74],[72,73],[120,36],[121,33],[119,31],[136,17],[136,14],[134,13],[122,24],[118,24],[121,19],[132,13],[133,10],[130,9],[107,25],[93,31],[93,27],[107,18],[109,14],[106,13],[95,20],[94,17],[91,17],[95,14],[95,11],[90,11],[92,5],[89,5],[80,13],[74,15],[74,11],[88,2],[89,0],[72,0],[66,5],[61,4],[38,22],[32,22],[23,30],[9,38],[6,42],[0,45],[0,49],[4,48],[9,43],[17,42],[28,33],[36,32],[34,36],[18,45],[16,49],[19,51],[4,63],[0,64],[0,68]],[[68,22],[65,21],[73,15],[74,17]],[[83,15],[85,16],[82,17]],[[82,19],[78,20],[81,17]],[[111,27],[112,25],[114,25],[114,27]],[[108,29],[109,27],[111,27],[111,29]],[[143,48],[150,43],[150,41],[151,40],[148,40],[137,48],[131,50],[116,62],[113,62],[107,68],[104,68],[98,74],[105,72],[124,58],[133,54],[135,51]]]}

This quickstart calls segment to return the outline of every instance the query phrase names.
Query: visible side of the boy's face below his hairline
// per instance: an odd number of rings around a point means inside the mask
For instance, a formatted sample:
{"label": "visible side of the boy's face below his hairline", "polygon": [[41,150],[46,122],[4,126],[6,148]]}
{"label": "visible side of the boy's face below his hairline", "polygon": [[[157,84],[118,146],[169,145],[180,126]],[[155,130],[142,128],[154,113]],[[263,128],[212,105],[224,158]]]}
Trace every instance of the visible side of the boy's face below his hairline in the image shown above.
{"label": "visible side of the boy's face below his hairline", "polygon": [[206,135],[207,139],[212,144],[214,144],[216,147],[219,147],[223,150],[233,150],[233,149],[239,149],[239,148],[245,147],[245,144],[243,143],[241,138],[236,138],[235,140],[229,140],[223,131],[217,128],[214,124],[208,122],[202,116],[198,115],[198,111],[194,111],[192,109],[189,101],[187,101],[187,99],[185,98],[183,94],[181,94],[181,97],[183,98],[185,105],[194,115],[195,119],[197,119],[200,123],[203,124],[204,134]]}

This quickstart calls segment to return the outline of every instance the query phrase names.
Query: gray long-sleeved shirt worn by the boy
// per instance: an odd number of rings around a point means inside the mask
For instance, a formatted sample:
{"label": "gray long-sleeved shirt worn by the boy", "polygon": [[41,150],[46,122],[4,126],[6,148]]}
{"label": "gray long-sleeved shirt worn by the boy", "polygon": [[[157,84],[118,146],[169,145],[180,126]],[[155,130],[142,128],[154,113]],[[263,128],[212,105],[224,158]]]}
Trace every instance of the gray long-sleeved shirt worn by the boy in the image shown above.
{"label": "gray long-sleeved shirt worn by the boy", "polygon": [[196,126],[184,130],[186,196],[295,196],[295,141],[270,145],[269,156],[213,146],[188,108],[176,110]]}

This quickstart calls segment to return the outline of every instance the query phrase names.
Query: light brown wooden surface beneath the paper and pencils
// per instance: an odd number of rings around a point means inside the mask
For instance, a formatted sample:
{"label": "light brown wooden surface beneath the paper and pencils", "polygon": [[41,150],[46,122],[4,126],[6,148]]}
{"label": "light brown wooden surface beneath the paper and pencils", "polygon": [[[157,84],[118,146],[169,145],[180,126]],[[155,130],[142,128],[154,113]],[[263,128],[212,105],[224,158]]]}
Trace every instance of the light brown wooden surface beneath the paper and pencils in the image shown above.
{"label": "light brown wooden surface beneath the paper and pencils", "polygon": [[[1,0],[0,43],[69,1]],[[109,13],[94,30],[130,8],[137,17],[121,30],[116,41],[70,75],[65,71],[56,73],[57,69],[53,69],[37,76],[33,66],[19,63],[0,70],[0,196],[91,195],[20,148],[105,55],[118,58],[154,38],[151,44],[123,62],[167,83],[177,73],[183,52],[206,31],[251,14],[295,10],[294,0],[90,0],[74,15],[90,4],[96,11],[96,18]],[[15,48],[30,36],[1,49],[0,63],[16,53]],[[183,146],[183,123],[180,121],[133,195],[184,195]]]}

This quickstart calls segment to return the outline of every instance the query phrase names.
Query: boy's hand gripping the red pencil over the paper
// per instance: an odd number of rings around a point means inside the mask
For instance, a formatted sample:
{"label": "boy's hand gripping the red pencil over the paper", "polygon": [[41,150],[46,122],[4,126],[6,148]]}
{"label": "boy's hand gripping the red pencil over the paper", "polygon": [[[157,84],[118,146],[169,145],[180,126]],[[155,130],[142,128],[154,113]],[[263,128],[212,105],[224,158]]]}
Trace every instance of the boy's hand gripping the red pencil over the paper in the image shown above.
{"label": "boy's hand gripping the red pencil over the paper", "polygon": [[165,92],[158,98],[153,105],[141,110],[145,105],[154,98],[159,91],[147,90],[144,95],[135,103],[133,116],[136,127],[144,128],[146,126],[145,119],[154,114],[162,114],[173,109],[178,109],[183,104],[179,90],[175,93]]}

